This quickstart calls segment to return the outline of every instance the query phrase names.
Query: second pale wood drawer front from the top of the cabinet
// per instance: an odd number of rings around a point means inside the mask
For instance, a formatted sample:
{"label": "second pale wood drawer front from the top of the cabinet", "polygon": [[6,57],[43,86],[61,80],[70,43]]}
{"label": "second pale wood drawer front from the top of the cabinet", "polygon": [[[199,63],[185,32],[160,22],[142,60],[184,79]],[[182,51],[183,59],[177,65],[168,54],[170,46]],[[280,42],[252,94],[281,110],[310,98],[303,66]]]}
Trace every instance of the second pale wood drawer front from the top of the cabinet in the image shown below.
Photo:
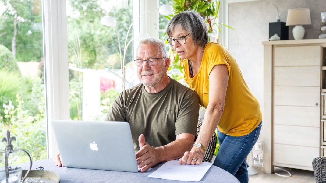
{"label": "second pale wood drawer front from the top of the cabinet", "polygon": [[320,66],[275,67],[275,86],[320,86]]}

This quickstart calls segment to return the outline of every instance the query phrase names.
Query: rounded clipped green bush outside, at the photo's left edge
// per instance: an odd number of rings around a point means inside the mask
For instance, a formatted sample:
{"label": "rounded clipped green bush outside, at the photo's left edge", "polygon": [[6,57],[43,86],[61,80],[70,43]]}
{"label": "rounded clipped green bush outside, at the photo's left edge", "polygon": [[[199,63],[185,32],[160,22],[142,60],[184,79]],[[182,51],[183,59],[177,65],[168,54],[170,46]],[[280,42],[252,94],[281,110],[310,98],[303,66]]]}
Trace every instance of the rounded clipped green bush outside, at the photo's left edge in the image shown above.
{"label": "rounded clipped green bush outside, at the photo's left edge", "polygon": [[0,69],[21,75],[21,71],[15,58],[13,57],[11,51],[4,45],[0,45]]}

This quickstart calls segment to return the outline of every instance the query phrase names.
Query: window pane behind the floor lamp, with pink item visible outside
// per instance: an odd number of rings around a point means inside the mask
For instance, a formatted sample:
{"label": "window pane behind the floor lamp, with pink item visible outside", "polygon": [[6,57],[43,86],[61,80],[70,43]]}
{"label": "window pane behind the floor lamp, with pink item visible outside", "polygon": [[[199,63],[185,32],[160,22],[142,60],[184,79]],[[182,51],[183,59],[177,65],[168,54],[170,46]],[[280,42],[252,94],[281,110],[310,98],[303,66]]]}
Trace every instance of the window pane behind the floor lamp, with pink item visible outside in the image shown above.
{"label": "window pane behind the floor lamp, with pink item visible outside", "polygon": [[[67,0],[69,100],[72,120],[104,120],[122,91],[122,71],[116,29],[122,53],[133,21],[132,0]],[[114,27],[100,20],[111,16]],[[133,38],[133,30],[127,42]],[[134,85],[133,44],[126,50],[126,88]],[[131,62],[132,61],[132,62]]]}

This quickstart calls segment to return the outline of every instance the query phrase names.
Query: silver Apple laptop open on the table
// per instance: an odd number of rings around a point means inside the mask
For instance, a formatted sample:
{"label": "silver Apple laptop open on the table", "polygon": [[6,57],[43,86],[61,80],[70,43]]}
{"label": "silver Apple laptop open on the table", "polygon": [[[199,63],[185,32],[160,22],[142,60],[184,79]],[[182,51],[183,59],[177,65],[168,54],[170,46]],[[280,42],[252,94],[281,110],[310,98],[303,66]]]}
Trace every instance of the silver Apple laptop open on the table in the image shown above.
{"label": "silver Apple laptop open on the table", "polygon": [[63,165],[138,172],[127,122],[51,120]]}

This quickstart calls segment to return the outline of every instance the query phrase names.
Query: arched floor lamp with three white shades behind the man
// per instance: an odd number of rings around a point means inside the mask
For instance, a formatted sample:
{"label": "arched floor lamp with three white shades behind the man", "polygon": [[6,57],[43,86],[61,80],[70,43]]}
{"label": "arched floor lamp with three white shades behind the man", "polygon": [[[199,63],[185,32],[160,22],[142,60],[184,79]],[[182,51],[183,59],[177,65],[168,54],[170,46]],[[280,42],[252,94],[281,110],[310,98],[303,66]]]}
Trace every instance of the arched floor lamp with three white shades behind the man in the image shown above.
{"label": "arched floor lamp with three white shades behind the man", "polygon": [[156,8],[155,10],[150,10],[150,11],[146,11],[142,14],[140,14],[129,26],[129,29],[127,31],[127,35],[126,35],[126,39],[125,39],[125,46],[124,46],[124,53],[123,56],[121,54],[121,45],[120,45],[120,38],[119,38],[119,34],[118,34],[118,30],[115,27],[116,25],[116,21],[113,17],[110,16],[105,16],[101,18],[101,24],[105,25],[105,26],[110,26],[110,27],[114,27],[115,31],[117,33],[118,36],[118,44],[119,44],[119,51],[120,51],[120,65],[121,65],[121,69],[122,69],[122,89],[125,90],[126,89],[126,74],[125,74],[125,60],[126,60],[126,49],[128,48],[129,44],[131,43],[131,41],[133,41],[134,39],[136,40],[141,40],[144,38],[147,38],[148,35],[146,33],[140,33],[138,36],[136,36],[135,38],[131,39],[128,44],[127,44],[127,38],[130,32],[130,29],[132,27],[132,25],[135,23],[136,20],[138,20],[142,15],[149,13],[149,12],[153,12],[153,11],[158,11],[160,14],[162,15],[170,15],[173,12],[173,7],[171,5],[163,5],[160,8]]}

